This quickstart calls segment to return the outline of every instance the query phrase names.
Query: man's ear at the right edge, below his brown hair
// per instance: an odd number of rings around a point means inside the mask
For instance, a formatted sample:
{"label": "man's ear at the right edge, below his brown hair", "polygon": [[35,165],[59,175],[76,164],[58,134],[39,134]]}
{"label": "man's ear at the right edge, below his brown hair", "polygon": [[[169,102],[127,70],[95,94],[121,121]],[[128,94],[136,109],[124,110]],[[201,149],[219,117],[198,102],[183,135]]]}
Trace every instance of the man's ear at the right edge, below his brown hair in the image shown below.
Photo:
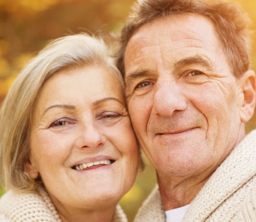
{"label": "man's ear at the right edge, below his brown hair", "polygon": [[246,123],[252,118],[256,103],[256,75],[254,71],[248,70],[240,77],[240,87],[244,94],[240,118],[243,123]]}

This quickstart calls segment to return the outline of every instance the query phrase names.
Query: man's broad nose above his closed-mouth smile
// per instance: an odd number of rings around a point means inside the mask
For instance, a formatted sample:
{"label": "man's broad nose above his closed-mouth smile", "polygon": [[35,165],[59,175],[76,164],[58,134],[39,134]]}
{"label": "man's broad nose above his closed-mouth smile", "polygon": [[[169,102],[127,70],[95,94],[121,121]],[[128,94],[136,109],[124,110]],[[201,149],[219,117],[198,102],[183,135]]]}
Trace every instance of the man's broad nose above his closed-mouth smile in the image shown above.
{"label": "man's broad nose above his closed-mouth smile", "polygon": [[175,79],[158,79],[153,99],[153,110],[162,116],[171,116],[174,111],[184,111],[187,101],[182,87]]}

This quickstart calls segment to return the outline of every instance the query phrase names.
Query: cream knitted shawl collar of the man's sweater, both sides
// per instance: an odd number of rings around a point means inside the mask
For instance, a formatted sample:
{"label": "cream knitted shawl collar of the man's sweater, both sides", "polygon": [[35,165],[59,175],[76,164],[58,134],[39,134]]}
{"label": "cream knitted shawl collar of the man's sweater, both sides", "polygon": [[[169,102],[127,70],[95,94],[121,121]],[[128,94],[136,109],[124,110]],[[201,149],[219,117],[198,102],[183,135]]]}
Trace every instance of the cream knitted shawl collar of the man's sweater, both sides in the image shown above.
{"label": "cream knitted shawl collar of the man's sweater, both sides", "polygon": [[[204,221],[228,197],[256,175],[255,144],[256,130],[248,134],[215,170],[192,201],[183,221],[191,221],[191,218],[194,221],[197,219]],[[140,221],[165,221],[164,206],[158,186],[138,211],[134,222]]]}

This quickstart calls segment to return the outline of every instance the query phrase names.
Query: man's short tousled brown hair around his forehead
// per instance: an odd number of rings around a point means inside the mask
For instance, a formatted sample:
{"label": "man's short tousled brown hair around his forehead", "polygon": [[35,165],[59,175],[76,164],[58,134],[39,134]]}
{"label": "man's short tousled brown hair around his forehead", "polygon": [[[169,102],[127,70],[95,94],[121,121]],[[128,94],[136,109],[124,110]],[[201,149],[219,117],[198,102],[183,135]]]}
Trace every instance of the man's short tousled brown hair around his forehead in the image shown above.
{"label": "man's short tousled brown hair around his forehead", "polygon": [[133,33],[142,25],[166,16],[194,13],[212,21],[233,75],[239,78],[250,67],[251,20],[234,2],[208,4],[202,0],[137,0],[122,30],[117,67],[124,76],[124,53]]}

